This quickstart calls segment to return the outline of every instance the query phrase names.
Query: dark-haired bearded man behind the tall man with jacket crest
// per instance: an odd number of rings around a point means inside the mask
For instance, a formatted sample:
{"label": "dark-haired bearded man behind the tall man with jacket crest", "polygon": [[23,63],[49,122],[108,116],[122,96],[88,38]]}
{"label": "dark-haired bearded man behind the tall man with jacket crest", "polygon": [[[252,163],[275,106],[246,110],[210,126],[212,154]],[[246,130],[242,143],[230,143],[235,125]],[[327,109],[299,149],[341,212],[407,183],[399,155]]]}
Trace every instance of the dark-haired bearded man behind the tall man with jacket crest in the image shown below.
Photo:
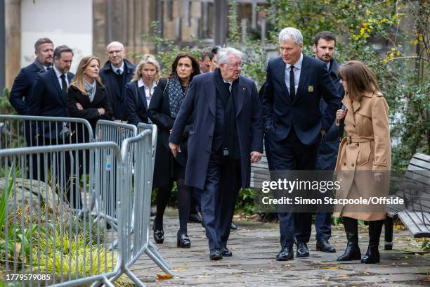
{"label": "dark-haired bearded man behind the tall man with jacket crest", "polygon": [[[344,97],[344,87],[337,77],[337,62],[333,57],[336,48],[336,37],[332,32],[323,31],[315,36],[313,44],[313,53],[315,58],[322,60],[327,65],[327,70],[333,80],[337,93],[341,98]],[[324,113],[327,103],[321,98],[320,110]],[[339,127],[334,123],[323,136],[318,147],[318,159],[316,170],[334,170],[339,151]],[[330,212],[315,212],[315,229],[316,229],[316,249],[323,252],[336,252],[336,249],[328,242],[332,236],[332,214]]]}

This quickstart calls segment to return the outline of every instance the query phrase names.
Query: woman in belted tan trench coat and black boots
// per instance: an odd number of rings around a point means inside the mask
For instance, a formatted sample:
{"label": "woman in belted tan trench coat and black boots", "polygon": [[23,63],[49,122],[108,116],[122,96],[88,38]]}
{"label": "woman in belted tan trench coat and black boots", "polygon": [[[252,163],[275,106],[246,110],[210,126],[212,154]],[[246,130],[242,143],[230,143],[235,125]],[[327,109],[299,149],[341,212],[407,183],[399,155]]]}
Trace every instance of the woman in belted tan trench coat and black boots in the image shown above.
{"label": "woman in belted tan trench coat and black boots", "polygon": [[[336,119],[345,117],[345,131],[337,156],[337,180],[341,189],[337,198],[358,199],[386,196],[391,166],[388,105],[379,91],[373,72],[358,60],[341,65],[339,79],[346,95],[344,110]],[[338,261],[360,260],[358,219],[369,222],[369,247],[362,263],[379,262],[379,236],[385,218],[385,205],[337,205],[334,216],[342,216],[348,238],[344,255]]]}

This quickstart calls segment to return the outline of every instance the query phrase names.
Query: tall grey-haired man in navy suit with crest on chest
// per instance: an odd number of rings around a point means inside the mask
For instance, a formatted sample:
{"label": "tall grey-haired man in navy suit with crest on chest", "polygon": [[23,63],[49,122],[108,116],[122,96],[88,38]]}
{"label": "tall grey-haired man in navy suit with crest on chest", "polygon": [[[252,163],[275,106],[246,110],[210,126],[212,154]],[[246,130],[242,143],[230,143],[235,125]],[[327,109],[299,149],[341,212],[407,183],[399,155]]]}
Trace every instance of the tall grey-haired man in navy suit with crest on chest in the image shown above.
{"label": "tall grey-haired man in navy suit with crest on chest", "polygon": [[[268,62],[263,117],[268,133],[273,170],[315,170],[318,144],[328,131],[339,95],[327,66],[304,56],[299,30],[287,27],[279,34],[280,54]],[[324,116],[320,98],[327,103]],[[297,241],[297,257],[309,256],[311,213],[278,213],[282,249],[277,260],[292,260],[292,245]]]}

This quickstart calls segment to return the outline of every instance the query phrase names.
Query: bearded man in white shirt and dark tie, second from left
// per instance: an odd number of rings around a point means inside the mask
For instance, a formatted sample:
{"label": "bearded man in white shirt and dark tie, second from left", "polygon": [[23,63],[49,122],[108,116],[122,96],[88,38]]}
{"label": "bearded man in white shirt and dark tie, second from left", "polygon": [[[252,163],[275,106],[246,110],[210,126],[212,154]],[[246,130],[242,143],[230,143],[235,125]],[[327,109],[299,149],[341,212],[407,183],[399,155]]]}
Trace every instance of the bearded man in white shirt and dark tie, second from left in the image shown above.
{"label": "bearded man in white shirt and dark tie, second from left", "polygon": [[[74,75],[69,72],[72,65],[73,51],[68,46],[58,46],[53,51],[53,68],[44,72],[34,82],[32,94],[30,96],[30,115],[44,117],[67,117],[67,87]],[[49,123],[41,122],[33,127],[35,143],[39,146],[47,146],[50,144],[68,144],[68,127],[63,122]],[[49,158],[48,167],[51,165]],[[43,163],[43,162],[42,162]],[[68,153],[65,153],[64,162],[60,164],[65,168],[65,179],[70,177],[70,158]],[[43,166],[43,165],[41,165]],[[44,169],[41,168],[41,180],[44,180]],[[68,180],[67,180],[68,182]],[[79,208],[81,205],[80,199],[77,201],[70,194],[71,188],[67,184],[66,196],[70,205]]]}

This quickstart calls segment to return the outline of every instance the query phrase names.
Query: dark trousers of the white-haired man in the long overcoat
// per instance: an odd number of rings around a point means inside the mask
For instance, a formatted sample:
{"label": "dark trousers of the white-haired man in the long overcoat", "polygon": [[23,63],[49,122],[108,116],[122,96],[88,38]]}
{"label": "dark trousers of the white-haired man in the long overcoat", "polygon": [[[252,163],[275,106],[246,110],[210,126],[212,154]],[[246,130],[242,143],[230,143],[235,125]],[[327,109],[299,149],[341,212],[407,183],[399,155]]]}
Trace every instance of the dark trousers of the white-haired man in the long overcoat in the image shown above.
{"label": "dark trousers of the white-haired man in the long overcoat", "polygon": [[200,204],[209,249],[227,246],[230,225],[242,186],[240,160],[212,151],[204,189],[200,190]]}

